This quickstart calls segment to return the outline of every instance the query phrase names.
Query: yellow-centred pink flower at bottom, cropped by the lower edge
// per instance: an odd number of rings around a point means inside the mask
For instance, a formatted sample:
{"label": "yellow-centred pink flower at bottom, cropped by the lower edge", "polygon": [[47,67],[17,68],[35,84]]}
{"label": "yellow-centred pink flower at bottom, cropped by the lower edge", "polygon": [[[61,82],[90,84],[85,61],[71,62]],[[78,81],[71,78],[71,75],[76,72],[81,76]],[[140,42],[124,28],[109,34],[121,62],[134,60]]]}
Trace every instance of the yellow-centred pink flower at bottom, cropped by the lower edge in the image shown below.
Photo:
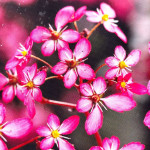
{"label": "yellow-centred pink flower at bottom, cropped by the lower edge", "polygon": [[71,116],[60,125],[59,118],[54,114],[50,114],[47,127],[42,126],[37,129],[37,133],[45,137],[40,143],[40,148],[42,150],[51,149],[56,143],[59,150],[75,150],[74,146],[63,138],[67,139],[64,135],[71,134],[78,124],[79,116]]}

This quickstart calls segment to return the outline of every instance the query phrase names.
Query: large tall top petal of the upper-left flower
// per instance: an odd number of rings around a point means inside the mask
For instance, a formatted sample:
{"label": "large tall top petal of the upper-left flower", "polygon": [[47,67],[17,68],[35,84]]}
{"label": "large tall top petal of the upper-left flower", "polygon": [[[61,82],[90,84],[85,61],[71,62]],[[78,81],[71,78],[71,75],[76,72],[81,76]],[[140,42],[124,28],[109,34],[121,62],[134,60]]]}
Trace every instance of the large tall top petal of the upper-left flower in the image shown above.
{"label": "large tall top petal of the upper-left flower", "polygon": [[55,17],[55,26],[57,31],[60,31],[68,22],[75,10],[72,6],[66,6],[60,9]]}

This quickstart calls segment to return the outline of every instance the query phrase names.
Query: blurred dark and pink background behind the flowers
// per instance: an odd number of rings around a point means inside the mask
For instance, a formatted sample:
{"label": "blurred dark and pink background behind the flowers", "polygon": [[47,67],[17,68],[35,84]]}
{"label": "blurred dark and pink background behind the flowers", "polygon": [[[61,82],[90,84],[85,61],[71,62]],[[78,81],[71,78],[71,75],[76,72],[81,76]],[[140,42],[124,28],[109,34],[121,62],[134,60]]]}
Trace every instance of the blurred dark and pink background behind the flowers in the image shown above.
{"label": "blurred dark and pink background behind the flowers", "polygon": [[[88,10],[99,8],[101,0],[0,0],[0,71],[5,74],[4,66],[8,59],[15,53],[19,43],[24,43],[27,36],[36,26],[48,27],[51,24],[54,27],[54,18],[58,10],[64,6],[72,5],[75,9],[86,5]],[[141,49],[141,60],[134,67],[133,76],[136,82],[146,85],[150,79],[150,56],[148,54],[148,42],[150,41],[150,1],[149,0],[104,0],[109,3],[117,13],[119,27],[123,30],[128,38],[128,43],[124,44],[115,34],[109,33],[100,26],[89,38],[92,44],[86,63],[94,69],[104,63],[104,59],[112,56],[117,45],[122,45],[129,53],[132,49]],[[89,23],[86,17],[79,22],[79,31],[84,28],[89,30],[94,26]],[[68,28],[74,28],[69,24]],[[73,45],[74,46],[74,45]],[[71,47],[73,49],[73,46]],[[43,58],[51,65],[58,61],[57,52],[50,57],[44,58],[41,54],[41,44],[34,44],[34,55]],[[31,63],[35,62],[32,60]],[[41,67],[43,64],[37,62]],[[102,68],[97,76],[104,76],[108,68]],[[51,73],[48,72],[50,76]],[[60,80],[49,80],[42,87],[43,96],[49,99],[67,101],[76,103],[79,94],[75,88],[65,89],[63,82]],[[112,91],[110,90],[110,93]],[[149,96],[135,96],[137,107],[129,112],[117,113],[111,110],[103,112],[104,122],[102,129],[99,130],[102,138],[117,136],[120,139],[120,148],[132,141],[139,141],[150,149],[150,130],[144,126],[143,119],[146,112],[150,109]],[[27,110],[22,102],[17,99],[6,105],[7,117],[11,120],[22,116],[27,116]],[[63,121],[67,117],[77,114],[80,115],[80,125],[69,135],[70,143],[75,145],[77,150],[88,150],[91,146],[96,145],[94,136],[88,136],[84,129],[85,116],[68,108],[60,106],[50,106],[36,104],[37,114],[33,119],[33,132],[21,140],[8,140],[8,147],[11,148],[29,138],[35,137],[35,129],[40,125],[46,125],[47,116],[53,112]],[[13,115],[12,115],[13,114]],[[36,144],[29,144],[20,150],[36,149]],[[57,150],[57,148],[55,147]]]}

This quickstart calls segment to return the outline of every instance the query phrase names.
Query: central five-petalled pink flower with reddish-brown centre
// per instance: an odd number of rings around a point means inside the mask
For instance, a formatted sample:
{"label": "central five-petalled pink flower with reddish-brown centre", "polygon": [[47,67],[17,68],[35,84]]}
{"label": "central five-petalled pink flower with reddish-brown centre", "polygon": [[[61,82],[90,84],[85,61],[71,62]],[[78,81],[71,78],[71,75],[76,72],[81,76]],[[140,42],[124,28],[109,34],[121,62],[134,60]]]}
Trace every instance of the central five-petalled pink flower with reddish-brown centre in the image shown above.
{"label": "central five-petalled pink flower with reddish-brown centre", "polygon": [[57,75],[66,73],[63,79],[66,88],[71,88],[75,84],[78,75],[86,80],[91,80],[95,77],[94,70],[89,65],[83,63],[83,59],[89,55],[90,51],[91,44],[85,38],[82,38],[76,44],[73,53],[67,48],[59,51],[61,62],[58,62],[51,71]]}

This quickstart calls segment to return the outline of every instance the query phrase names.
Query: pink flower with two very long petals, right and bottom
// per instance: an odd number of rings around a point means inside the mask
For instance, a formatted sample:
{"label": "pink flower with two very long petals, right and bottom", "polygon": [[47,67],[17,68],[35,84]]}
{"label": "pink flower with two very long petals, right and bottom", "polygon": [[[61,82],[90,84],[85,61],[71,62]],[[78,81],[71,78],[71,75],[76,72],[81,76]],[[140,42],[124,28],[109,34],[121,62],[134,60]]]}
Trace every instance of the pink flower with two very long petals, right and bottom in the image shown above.
{"label": "pink flower with two very long petals, right and bottom", "polygon": [[136,106],[135,101],[128,96],[114,94],[102,98],[106,91],[106,83],[102,77],[98,77],[93,81],[93,84],[80,84],[81,98],[77,102],[77,110],[81,113],[90,111],[86,122],[85,130],[87,134],[94,134],[102,127],[103,114],[102,108],[104,104],[117,112],[124,112],[133,109]]}

